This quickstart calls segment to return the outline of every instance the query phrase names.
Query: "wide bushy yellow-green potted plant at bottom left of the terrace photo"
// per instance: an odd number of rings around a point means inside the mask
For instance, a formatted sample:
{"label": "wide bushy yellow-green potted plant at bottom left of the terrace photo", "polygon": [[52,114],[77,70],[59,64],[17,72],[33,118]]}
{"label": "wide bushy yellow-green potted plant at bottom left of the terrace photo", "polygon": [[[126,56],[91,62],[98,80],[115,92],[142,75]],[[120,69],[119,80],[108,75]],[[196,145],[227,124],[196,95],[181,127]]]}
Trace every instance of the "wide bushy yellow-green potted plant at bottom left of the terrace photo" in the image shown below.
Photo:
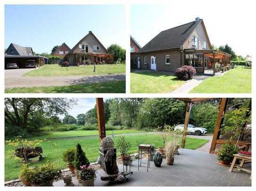
{"label": "wide bushy yellow-green potted plant at bottom left of the terrace photo", "polygon": [[27,174],[34,186],[52,186],[54,177],[60,175],[60,170],[53,168],[53,165],[49,163],[29,168]]}

